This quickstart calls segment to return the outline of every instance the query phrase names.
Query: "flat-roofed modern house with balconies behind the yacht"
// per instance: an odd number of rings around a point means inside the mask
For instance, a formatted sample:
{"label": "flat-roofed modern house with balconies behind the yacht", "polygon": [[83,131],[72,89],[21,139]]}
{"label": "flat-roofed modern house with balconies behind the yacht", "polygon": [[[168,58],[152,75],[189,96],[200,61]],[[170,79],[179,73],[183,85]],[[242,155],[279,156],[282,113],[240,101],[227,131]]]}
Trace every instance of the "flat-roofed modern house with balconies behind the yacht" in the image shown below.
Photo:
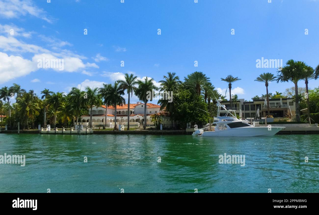
{"label": "flat-roofed modern house with balconies behind the yacht", "polygon": [[[226,106],[227,110],[235,110],[237,114],[240,113],[242,118],[255,118],[257,109],[259,109],[260,117],[269,115],[267,101],[264,97],[253,101],[245,101],[245,99],[239,99],[237,102],[233,102],[233,107],[230,107],[229,101],[221,101],[221,104]],[[274,118],[295,118],[296,106],[292,98],[283,99],[269,99],[270,114]]]}

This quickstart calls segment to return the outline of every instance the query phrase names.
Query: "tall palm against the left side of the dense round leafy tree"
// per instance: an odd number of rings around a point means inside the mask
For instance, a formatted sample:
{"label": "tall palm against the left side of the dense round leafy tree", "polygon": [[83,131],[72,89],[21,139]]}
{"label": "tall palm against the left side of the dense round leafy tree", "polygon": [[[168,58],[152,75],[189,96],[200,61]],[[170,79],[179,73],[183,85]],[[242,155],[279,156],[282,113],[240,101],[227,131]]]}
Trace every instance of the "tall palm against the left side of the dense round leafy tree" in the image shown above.
{"label": "tall palm against the left side of the dense round leafy tree", "polygon": [[[176,76],[176,73],[168,72],[167,76],[163,76],[164,80],[159,81],[160,88],[159,92],[164,95],[170,95],[172,98],[160,99],[157,104],[160,104],[160,110],[166,109],[172,116],[174,109],[174,98],[178,96],[178,89],[182,84],[179,76]],[[173,93],[173,94],[172,94]],[[169,102],[170,99],[172,102]],[[173,127],[173,118],[171,117],[171,125]]]}

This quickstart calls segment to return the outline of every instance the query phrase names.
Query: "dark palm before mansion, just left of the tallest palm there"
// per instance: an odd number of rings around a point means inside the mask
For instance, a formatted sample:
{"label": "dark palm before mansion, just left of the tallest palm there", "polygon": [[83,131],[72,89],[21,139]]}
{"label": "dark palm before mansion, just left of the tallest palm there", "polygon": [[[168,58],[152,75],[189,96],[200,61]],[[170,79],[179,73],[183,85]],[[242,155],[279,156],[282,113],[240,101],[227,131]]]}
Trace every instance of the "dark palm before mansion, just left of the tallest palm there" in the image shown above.
{"label": "dark palm before mansion, just left of the tallest palm there", "polygon": [[108,101],[114,107],[114,130],[118,129],[116,126],[116,105],[125,104],[125,98],[123,97],[123,95],[124,89],[120,87],[120,84],[117,81],[115,81],[114,85],[110,87],[108,95],[106,96],[106,98],[104,98],[105,101]]}

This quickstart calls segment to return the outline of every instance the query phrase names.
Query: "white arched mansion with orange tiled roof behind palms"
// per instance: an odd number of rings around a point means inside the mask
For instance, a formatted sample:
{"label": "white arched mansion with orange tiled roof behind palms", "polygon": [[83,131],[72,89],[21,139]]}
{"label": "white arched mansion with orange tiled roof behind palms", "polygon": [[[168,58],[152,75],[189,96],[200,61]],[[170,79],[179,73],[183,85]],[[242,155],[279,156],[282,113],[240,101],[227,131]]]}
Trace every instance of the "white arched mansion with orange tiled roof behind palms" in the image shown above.
{"label": "white arched mansion with orange tiled roof behind palms", "polygon": [[[128,122],[127,119],[127,114],[128,114],[128,105],[127,104],[122,104],[122,105],[116,105],[116,121],[117,123],[125,123]],[[153,114],[164,114],[167,116],[167,113],[165,111],[160,111],[160,106],[157,104],[152,104],[152,103],[147,103],[146,104],[146,123],[151,122],[151,115]],[[89,115],[84,115],[81,116],[81,122],[83,124],[88,124],[90,121],[90,114],[91,114],[91,109],[89,108]],[[101,105],[100,107],[93,106],[92,108],[92,124],[93,125],[102,125],[105,124],[105,111],[106,111],[106,106]],[[107,109],[107,119],[106,122],[107,124],[113,124],[115,123],[115,109],[113,106],[108,105]],[[167,123],[169,119],[165,117],[164,121]],[[130,124],[143,124],[144,122],[144,104],[137,102],[136,104],[130,104]],[[126,124],[126,123],[125,123]]]}

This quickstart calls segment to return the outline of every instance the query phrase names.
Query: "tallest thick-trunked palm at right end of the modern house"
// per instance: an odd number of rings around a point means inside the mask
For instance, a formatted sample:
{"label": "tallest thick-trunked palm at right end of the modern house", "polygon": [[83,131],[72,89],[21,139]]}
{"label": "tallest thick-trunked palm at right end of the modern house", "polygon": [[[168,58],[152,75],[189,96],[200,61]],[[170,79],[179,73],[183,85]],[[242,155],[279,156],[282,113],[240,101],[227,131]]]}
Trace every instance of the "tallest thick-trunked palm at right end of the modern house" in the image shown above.
{"label": "tallest thick-trunked palm at right end of the modern house", "polygon": [[303,78],[306,70],[306,64],[302,61],[294,61],[293,59],[286,62],[281,70],[278,71],[277,83],[292,81],[295,84],[295,102],[296,102],[296,121],[300,122],[300,106],[298,94],[298,81]]}

